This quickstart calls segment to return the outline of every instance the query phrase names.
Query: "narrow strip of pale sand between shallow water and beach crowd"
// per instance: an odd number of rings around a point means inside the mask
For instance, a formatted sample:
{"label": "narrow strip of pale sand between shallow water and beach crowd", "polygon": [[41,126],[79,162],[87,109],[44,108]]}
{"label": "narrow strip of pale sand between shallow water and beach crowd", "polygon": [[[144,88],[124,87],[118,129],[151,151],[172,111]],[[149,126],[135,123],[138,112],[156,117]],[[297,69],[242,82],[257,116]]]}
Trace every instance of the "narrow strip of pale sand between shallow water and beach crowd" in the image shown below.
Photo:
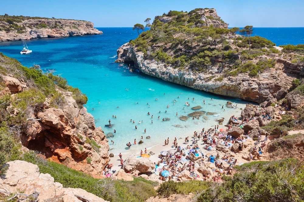
{"label": "narrow strip of pale sand between shallow water and beach crowd", "polygon": [[[240,104],[240,108],[245,108],[245,104]],[[244,106],[243,106],[244,105]],[[241,115],[241,111],[240,108],[237,108],[235,109],[235,116],[237,117],[240,117]],[[224,116],[224,122],[223,122],[223,125],[219,125],[219,129],[220,128],[227,128],[225,127],[224,125],[228,124],[228,121],[230,119],[230,114],[227,114],[227,116]],[[207,124],[207,123],[206,123]],[[202,126],[202,127],[205,127],[205,131],[208,130],[209,128],[214,128],[214,125],[208,125],[208,126]],[[202,130],[202,128],[200,129]],[[200,133],[201,131],[197,131],[198,133]],[[192,142],[191,142],[191,137],[193,136],[194,134],[194,130],[192,133],[187,133],[187,134],[177,134],[175,137],[177,138],[177,142],[178,142],[178,146],[181,146],[181,148],[183,147],[187,147],[187,145],[191,145]],[[166,135],[162,135],[162,137],[160,138],[160,143],[157,144],[157,145],[154,145],[154,146],[150,146],[150,147],[145,147],[144,143],[143,144],[139,144],[140,147],[138,147],[138,149],[136,149],[135,151],[133,150],[132,152],[130,153],[127,153],[127,154],[123,154],[123,152],[125,151],[124,149],[122,149],[122,158],[123,160],[125,160],[128,156],[130,155],[136,155],[136,156],[140,156],[140,150],[142,149],[143,150],[143,154],[144,154],[144,151],[145,151],[145,148],[147,148],[147,154],[149,154],[150,151],[152,151],[153,153],[155,153],[154,155],[150,156],[150,160],[157,163],[160,158],[158,158],[158,155],[161,153],[161,151],[168,151],[172,148],[175,149],[174,147],[174,137],[172,138],[172,135],[170,135],[171,138],[169,137],[169,144],[167,144],[165,146],[165,140],[168,138]],[[189,142],[188,144],[185,144],[185,137],[189,137]],[[143,142],[145,141],[146,138],[143,138]],[[140,139],[137,139],[137,144],[138,144],[138,141],[140,141]],[[134,147],[134,142],[131,142],[132,143],[132,146],[131,147]],[[199,144],[199,147],[200,144],[201,144],[201,141],[198,142]],[[109,151],[109,153],[111,153],[111,151]],[[121,168],[121,165],[120,165],[120,158],[118,156],[118,154],[114,154],[114,157],[111,157],[111,160],[109,162],[109,164],[113,164],[113,167],[112,167],[112,170],[119,170]]]}

